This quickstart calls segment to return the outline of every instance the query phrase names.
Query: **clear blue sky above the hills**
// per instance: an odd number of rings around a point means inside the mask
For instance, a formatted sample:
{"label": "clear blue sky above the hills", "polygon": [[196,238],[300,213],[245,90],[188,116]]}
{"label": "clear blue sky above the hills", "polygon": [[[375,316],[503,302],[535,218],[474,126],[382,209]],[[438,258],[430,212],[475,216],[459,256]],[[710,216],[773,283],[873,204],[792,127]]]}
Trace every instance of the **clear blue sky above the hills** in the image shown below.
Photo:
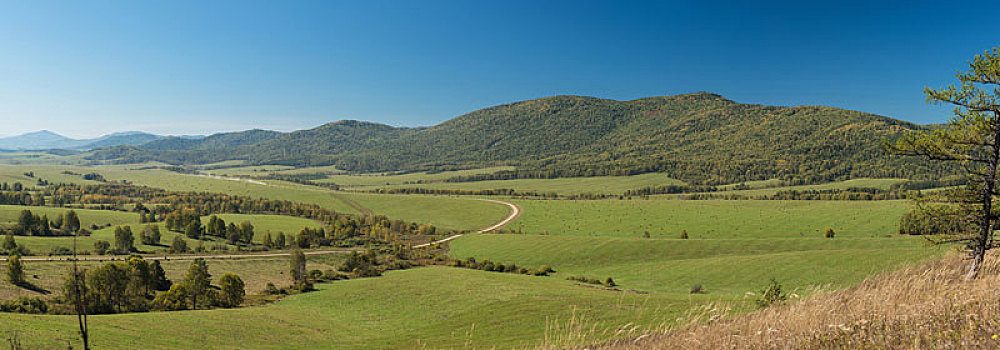
{"label": "clear blue sky above the hills", "polygon": [[0,135],[433,125],[557,94],[710,91],[920,122],[997,1],[0,1]]}

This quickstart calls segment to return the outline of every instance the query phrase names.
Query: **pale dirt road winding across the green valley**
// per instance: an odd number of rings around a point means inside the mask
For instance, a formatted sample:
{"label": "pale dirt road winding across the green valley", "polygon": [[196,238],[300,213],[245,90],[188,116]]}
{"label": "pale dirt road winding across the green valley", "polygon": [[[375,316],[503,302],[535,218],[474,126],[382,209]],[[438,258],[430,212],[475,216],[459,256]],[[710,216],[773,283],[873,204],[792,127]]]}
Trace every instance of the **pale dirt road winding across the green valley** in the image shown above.
{"label": "pale dirt road winding across the green valley", "polygon": [[[510,215],[508,215],[502,221],[494,224],[493,226],[490,226],[490,227],[484,228],[482,230],[476,231],[476,233],[486,233],[486,232],[490,232],[490,231],[499,230],[500,228],[503,228],[504,226],[506,226],[507,224],[509,224],[511,221],[514,221],[514,219],[517,219],[518,216],[521,216],[521,207],[518,206],[517,204],[511,203],[511,202],[505,202],[505,201],[495,200],[495,199],[482,199],[482,198],[475,198],[475,199],[469,199],[469,200],[477,200],[477,201],[484,201],[484,202],[491,202],[491,203],[503,204],[503,205],[506,205],[508,208],[510,208]],[[453,240],[453,239],[456,239],[456,238],[459,238],[459,237],[462,237],[462,236],[465,236],[465,234],[459,234],[459,235],[449,236],[449,237],[447,237],[445,239],[442,239],[442,240],[433,241],[433,242],[430,242],[430,243],[419,244],[419,245],[415,245],[413,247],[414,248],[428,247],[428,246],[430,246],[432,244],[440,244],[440,243],[448,242],[450,240]],[[328,254],[344,254],[344,253],[350,253],[352,251],[354,251],[354,249],[330,249],[330,250],[311,250],[311,251],[305,251],[304,253],[305,253],[305,255],[328,255]],[[224,260],[224,259],[275,258],[275,257],[289,256],[289,255],[291,255],[291,252],[284,252],[284,253],[220,254],[220,255],[170,255],[170,256],[167,256],[167,255],[142,255],[142,258],[146,259],[146,260],[194,260],[194,259]],[[128,255],[119,255],[119,256],[89,256],[89,255],[85,255],[85,256],[78,257],[78,259],[79,259],[79,261],[113,261],[113,260],[126,260],[126,259],[128,259],[128,257],[129,257]],[[0,261],[7,261],[7,258],[6,257],[0,258]],[[26,256],[26,257],[22,257],[21,261],[67,261],[68,262],[68,261],[73,261],[73,258],[70,257],[70,256]]]}

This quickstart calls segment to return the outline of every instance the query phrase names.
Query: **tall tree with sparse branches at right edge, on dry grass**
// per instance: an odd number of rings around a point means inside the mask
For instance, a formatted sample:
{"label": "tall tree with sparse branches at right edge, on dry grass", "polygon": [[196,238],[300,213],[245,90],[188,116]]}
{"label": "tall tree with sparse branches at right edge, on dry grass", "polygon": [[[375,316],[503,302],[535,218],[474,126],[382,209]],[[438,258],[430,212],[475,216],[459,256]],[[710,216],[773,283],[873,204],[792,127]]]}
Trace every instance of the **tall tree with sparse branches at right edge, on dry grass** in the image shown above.
{"label": "tall tree with sparse branches at right edge, on dry grass", "polygon": [[[961,242],[970,256],[966,279],[975,278],[986,251],[994,247],[993,210],[1000,170],[1000,48],[976,55],[967,72],[956,75],[960,84],[943,89],[926,88],[927,101],[955,106],[955,116],[943,128],[904,135],[890,150],[897,154],[926,157],[931,161],[963,165],[968,183],[945,191],[941,199],[956,204],[954,215],[974,222],[972,229],[945,232],[938,243]],[[935,214],[930,214],[935,215]]]}

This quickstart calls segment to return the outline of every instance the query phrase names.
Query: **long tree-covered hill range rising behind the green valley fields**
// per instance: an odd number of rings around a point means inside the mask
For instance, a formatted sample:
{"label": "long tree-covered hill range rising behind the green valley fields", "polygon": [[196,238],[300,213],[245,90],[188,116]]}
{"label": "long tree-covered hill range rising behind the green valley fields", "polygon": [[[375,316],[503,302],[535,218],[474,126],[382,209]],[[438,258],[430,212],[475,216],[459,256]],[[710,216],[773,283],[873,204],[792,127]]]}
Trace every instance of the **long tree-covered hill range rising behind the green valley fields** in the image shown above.
{"label": "long tree-covered hill range rising behind the green valley fields", "polygon": [[94,159],[326,165],[374,172],[509,164],[497,177],[663,171],[695,183],[767,178],[940,177],[950,169],[886,154],[925,127],[822,106],[740,104],[710,93],[614,101],[555,96],[475,111],[429,128],[342,121],[212,148],[116,147]]}

